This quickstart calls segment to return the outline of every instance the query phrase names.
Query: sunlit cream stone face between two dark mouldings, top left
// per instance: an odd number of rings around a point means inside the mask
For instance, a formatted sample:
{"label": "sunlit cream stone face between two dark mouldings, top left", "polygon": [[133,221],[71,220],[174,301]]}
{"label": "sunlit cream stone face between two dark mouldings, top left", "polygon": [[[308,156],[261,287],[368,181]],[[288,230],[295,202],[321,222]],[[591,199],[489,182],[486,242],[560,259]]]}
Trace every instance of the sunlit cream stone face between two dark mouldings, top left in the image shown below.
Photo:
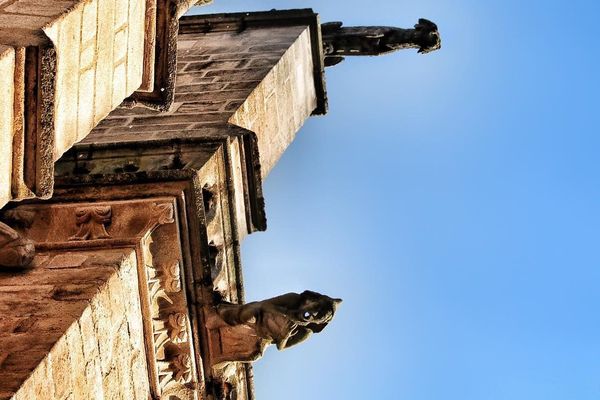
{"label": "sunlit cream stone face between two dark mouldings, top left", "polygon": [[55,160],[142,83],[145,0],[78,3],[44,29],[58,52]]}

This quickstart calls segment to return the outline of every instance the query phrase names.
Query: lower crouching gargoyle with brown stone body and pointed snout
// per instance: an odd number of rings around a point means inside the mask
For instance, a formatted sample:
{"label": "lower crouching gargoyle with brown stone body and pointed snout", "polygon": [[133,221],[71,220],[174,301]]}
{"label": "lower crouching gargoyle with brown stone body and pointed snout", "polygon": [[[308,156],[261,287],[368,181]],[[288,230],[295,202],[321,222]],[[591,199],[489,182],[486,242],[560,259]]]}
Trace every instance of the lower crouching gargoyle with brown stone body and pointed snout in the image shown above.
{"label": "lower crouching gargoyle with brown stone body and pointed snout", "polygon": [[301,343],[325,329],[341,302],[306,290],[248,304],[220,304],[207,318],[207,327],[218,334],[218,345],[211,345],[213,362],[252,362],[270,344],[283,350]]}

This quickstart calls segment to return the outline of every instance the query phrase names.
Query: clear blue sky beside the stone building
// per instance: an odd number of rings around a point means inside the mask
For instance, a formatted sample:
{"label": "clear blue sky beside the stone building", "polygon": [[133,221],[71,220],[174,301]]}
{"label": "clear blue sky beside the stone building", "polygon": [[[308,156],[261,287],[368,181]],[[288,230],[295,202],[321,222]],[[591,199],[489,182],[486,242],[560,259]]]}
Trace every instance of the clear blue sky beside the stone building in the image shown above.
{"label": "clear blue sky beside the stone building", "polygon": [[600,399],[600,2],[216,0],[436,22],[442,50],[327,70],[265,182],[247,299],[344,298],[255,364],[258,400]]}

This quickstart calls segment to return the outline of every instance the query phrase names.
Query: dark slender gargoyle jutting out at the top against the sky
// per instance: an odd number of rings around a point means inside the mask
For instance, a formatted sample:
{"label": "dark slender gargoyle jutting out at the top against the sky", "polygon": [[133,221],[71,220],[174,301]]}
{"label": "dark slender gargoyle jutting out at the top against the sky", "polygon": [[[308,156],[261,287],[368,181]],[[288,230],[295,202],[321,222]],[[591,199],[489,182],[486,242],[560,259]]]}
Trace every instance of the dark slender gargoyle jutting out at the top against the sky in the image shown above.
{"label": "dark slender gargoyle jutting out at the top against the sky", "polygon": [[321,25],[325,66],[344,60],[344,56],[378,56],[401,49],[419,49],[426,54],[441,47],[437,25],[424,18],[414,29],[389,26],[342,27],[342,22]]}

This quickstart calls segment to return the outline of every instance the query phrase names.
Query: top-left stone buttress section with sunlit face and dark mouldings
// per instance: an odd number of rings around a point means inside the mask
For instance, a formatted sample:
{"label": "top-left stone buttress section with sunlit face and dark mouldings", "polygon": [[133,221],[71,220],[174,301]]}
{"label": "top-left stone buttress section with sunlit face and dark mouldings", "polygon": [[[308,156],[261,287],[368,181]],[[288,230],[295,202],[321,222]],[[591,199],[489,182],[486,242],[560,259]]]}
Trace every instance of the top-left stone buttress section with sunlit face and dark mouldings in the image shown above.
{"label": "top-left stone buttress section with sunlit face and dark mouldings", "polygon": [[54,162],[139,88],[172,94],[177,19],[194,3],[0,0],[0,207],[49,197]]}

